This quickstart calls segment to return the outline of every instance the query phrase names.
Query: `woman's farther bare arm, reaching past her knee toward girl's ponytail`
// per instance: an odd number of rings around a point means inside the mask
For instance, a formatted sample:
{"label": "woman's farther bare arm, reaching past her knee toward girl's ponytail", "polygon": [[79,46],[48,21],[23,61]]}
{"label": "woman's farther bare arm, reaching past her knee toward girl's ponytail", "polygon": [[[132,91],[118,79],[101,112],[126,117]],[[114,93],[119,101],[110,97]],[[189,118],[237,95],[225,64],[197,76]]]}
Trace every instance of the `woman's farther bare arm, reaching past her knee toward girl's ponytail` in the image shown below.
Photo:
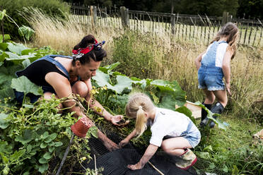
{"label": "woman's farther bare arm, reaching past her knee toward girl's ponytail", "polygon": [[[122,115],[113,116],[108,111],[106,111],[103,105],[101,105],[96,99],[91,98],[92,85],[91,85],[90,79],[84,81],[84,83],[88,87],[88,95],[86,96],[86,101],[87,101],[88,106],[91,109],[93,109],[93,111],[95,111],[96,114],[103,116],[107,121],[110,121],[114,125],[120,126],[117,122],[119,122],[123,118],[123,116]],[[126,123],[122,125],[127,125],[128,123],[129,121],[127,121]]]}

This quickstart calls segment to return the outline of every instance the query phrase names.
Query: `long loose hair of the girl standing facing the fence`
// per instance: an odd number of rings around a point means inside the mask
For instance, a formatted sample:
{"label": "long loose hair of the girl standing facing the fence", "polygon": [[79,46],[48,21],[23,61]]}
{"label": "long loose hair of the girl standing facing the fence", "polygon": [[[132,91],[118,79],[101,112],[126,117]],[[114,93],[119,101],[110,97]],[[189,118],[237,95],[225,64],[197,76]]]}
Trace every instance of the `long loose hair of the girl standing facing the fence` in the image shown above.
{"label": "long loose hair of the girl standing facing the fence", "polygon": [[226,23],[225,25],[223,25],[221,30],[219,30],[216,37],[211,43],[220,40],[221,37],[228,37],[228,40],[226,40],[226,42],[228,43],[228,49],[233,52],[233,55],[231,57],[231,59],[233,59],[236,54],[237,41],[239,37],[238,26],[234,23]]}

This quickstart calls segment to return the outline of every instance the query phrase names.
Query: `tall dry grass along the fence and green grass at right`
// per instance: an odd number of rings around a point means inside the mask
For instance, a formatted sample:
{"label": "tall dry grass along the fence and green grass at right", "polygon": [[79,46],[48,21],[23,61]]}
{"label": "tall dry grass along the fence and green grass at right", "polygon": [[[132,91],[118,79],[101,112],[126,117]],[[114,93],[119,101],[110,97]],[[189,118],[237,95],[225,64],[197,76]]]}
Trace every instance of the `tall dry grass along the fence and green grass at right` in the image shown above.
{"label": "tall dry grass along the fence and green grass at right", "polygon": [[[170,33],[142,33],[100,25],[83,25],[69,16],[62,21],[32,11],[28,20],[35,30],[34,46],[50,45],[64,54],[83,36],[92,33],[98,40],[106,40],[108,58],[103,64],[119,61],[117,68],[127,76],[177,80],[187,92],[187,100],[202,102],[203,92],[198,90],[197,70],[194,59],[204,52],[207,45],[200,40],[171,37]],[[98,24],[100,24],[98,22]],[[229,123],[226,131],[217,128],[202,131],[202,143],[195,152],[208,152],[200,157],[197,169],[218,174],[262,173],[262,147],[252,140],[252,133],[262,129],[263,111],[263,49],[238,47],[231,61],[232,97],[221,119]],[[211,149],[209,147],[211,146]],[[206,154],[206,153],[205,153]]]}

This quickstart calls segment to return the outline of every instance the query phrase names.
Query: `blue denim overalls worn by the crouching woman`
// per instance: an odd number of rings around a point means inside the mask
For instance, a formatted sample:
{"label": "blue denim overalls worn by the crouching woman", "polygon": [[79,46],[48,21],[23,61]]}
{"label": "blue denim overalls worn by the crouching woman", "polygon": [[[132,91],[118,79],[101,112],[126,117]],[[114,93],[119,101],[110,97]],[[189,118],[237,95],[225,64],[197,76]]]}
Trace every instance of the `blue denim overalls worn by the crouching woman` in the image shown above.
{"label": "blue denim overalls worn by the crouching woman", "polygon": [[[57,66],[57,68],[60,68],[60,70],[63,71],[63,73],[67,76],[68,80],[69,80],[69,72],[66,71],[66,68],[64,68],[64,66],[62,64],[59,63],[59,61],[53,59],[52,57],[62,57],[62,58],[67,58],[67,59],[73,59],[71,56],[63,56],[63,55],[47,55],[44,56],[40,59],[35,60],[33,63],[35,63],[36,61],[40,61],[40,60],[46,60],[49,61],[50,63],[54,64],[55,66]],[[33,64],[32,63],[32,64]],[[18,71],[19,72],[19,71]],[[16,73],[18,73],[16,72]],[[17,75],[16,75],[17,76]],[[56,94],[56,92],[54,91],[54,88],[52,86],[41,86],[43,92],[52,92],[54,94]],[[23,103],[23,98],[24,98],[24,92],[17,92],[15,90],[15,95],[16,95],[16,99],[19,103]],[[27,97],[30,97],[30,103],[34,103],[37,102],[37,99],[40,98],[40,95],[33,95],[33,94],[28,94],[26,95]]]}

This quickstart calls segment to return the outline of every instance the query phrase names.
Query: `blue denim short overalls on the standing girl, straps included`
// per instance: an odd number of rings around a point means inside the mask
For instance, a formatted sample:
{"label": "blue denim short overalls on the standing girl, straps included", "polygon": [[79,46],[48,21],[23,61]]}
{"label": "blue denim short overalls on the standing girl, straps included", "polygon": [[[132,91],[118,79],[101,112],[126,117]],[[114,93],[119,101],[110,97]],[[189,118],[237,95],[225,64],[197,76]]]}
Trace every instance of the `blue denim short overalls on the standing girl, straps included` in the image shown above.
{"label": "blue denim short overalls on the standing girl, straps included", "polygon": [[225,90],[223,70],[221,67],[216,66],[216,51],[221,43],[226,42],[213,42],[206,55],[201,59],[201,67],[198,70],[198,87],[200,89]]}

